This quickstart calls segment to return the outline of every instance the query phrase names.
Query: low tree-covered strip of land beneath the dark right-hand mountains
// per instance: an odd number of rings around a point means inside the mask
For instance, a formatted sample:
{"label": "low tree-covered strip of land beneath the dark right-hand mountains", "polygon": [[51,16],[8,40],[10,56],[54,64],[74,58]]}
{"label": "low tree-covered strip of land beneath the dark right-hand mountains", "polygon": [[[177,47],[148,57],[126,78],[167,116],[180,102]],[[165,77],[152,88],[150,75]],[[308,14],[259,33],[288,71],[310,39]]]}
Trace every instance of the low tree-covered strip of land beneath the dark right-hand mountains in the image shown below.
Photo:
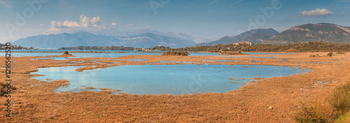
{"label": "low tree-covered strip of land beneath the dark right-hand mountains", "polygon": [[350,52],[350,43],[325,43],[323,41],[309,43],[293,43],[288,45],[268,44],[225,44],[225,45],[202,45],[188,48],[165,48],[157,46],[151,50],[163,51],[242,51],[242,52]]}

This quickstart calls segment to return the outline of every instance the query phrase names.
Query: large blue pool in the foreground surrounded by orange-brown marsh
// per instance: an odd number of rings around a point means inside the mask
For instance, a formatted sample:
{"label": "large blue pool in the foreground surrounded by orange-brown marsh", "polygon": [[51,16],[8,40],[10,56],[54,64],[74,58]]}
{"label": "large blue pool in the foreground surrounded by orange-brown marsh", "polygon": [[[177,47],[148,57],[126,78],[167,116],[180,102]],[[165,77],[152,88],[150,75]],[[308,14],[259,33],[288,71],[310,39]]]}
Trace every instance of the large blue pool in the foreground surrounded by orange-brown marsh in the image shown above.
{"label": "large blue pool in the foreground surrounded by orange-brown marsh", "polygon": [[80,67],[82,66],[38,68],[38,71],[32,74],[45,75],[35,77],[38,80],[49,78],[70,81],[68,87],[60,87],[56,90],[57,92],[79,92],[81,91],[79,89],[85,89],[85,87],[96,87],[122,89],[122,92],[129,94],[179,95],[198,92],[225,93],[239,89],[244,85],[243,82],[249,81],[239,80],[233,83],[229,78],[272,78],[305,72],[300,68],[293,70],[295,67],[288,68],[288,66],[279,68],[279,66],[248,65],[244,67],[244,65],[224,64],[127,65],[83,72],[74,71]]}

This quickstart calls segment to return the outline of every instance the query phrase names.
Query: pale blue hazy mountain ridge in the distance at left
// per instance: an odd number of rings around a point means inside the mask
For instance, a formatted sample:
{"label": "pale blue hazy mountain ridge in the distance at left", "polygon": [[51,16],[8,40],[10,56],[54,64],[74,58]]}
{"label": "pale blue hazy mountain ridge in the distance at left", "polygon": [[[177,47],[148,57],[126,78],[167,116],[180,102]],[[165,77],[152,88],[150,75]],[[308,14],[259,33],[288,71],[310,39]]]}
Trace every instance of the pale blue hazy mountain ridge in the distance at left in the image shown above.
{"label": "pale blue hazy mountain ridge in the distance at left", "polygon": [[[130,36],[131,34],[134,34]],[[187,34],[162,33],[141,29],[138,31],[113,31],[108,34],[92,34],[79,31],[74,34],[50,34],[21,38],[16,45],[33,48],[56,49],[76,46],[111,46],[123,45],[133,48],[153,48],[164,45],[171,48],[190,47],[197,43],[207,43],[216,38],[201,38]]]}

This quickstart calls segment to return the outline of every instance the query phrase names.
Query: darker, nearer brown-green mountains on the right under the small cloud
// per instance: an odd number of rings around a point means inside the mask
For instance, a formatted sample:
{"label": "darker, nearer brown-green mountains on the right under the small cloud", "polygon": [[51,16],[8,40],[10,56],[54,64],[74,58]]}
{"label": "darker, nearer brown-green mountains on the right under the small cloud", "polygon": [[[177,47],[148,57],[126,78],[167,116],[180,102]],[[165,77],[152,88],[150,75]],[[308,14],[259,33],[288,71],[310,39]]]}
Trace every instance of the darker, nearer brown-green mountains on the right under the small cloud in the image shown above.
{"label": "darker, nearer brown-green mountains on the right under the small cloud", "polygon": [[310,41],[350,43],[350,27],[342,27],[330,23],[319,23],[297,25],[281,33],[271,28],[253,29],[237,36],[225,36],[218,41],[199,43],[197,45],[218,45],[246,41],[256,44],[263,43],[272,45],[305,43]]}

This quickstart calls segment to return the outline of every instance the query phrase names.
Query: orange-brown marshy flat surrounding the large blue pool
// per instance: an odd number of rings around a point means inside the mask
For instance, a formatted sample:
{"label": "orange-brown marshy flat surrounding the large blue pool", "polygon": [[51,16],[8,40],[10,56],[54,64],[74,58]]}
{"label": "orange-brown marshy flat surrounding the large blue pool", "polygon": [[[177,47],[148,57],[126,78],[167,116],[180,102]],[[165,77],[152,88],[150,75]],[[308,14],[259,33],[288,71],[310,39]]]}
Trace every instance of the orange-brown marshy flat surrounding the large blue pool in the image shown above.
{"label": "orange-brown marshy flat surrounding the large blue pool", "polygon": [[[130,55],[117,58],[68,60],[11,57],[12,85],[16,87],[11,95],[12,116],[6,117],[4,111],[6,106],[1,105],[0,120],[8,122],[295,122],[294,117],[300,110],[299,101],[325,101],[337,85],[344,84],[350,78],[350,52],[332,57],[310,57],[310,55],[327,53],[302,52],[290,55],[239,55],[237,57],[235,55],[200,57]],[[274,57],[274,59],[266,57]],[[130,61],[128,59],[147,60]],[[171,62],[160,63],[167,60]],[[300,66],[313,71],[279,78],[256,79],[254,83],[223,94],[181,95],[112,94],[113,90],[110,89],[103,89],[101,92],[55,92],[54,89],[69,85],[69,81],[39,81],[32,78],[37,75],[29,74],[43,67],[84,66],[76,69],[79,72],[93,71],[96,68],[146,64]],[[4,68],[5,64],[0,64],[0,67]],[[5,77],[5,71],[1,69],[1,80],[5,80]],[[325,82],[328,83],[325,84]],[[6,102],[6,99],[1,97],[0,101]]]}

